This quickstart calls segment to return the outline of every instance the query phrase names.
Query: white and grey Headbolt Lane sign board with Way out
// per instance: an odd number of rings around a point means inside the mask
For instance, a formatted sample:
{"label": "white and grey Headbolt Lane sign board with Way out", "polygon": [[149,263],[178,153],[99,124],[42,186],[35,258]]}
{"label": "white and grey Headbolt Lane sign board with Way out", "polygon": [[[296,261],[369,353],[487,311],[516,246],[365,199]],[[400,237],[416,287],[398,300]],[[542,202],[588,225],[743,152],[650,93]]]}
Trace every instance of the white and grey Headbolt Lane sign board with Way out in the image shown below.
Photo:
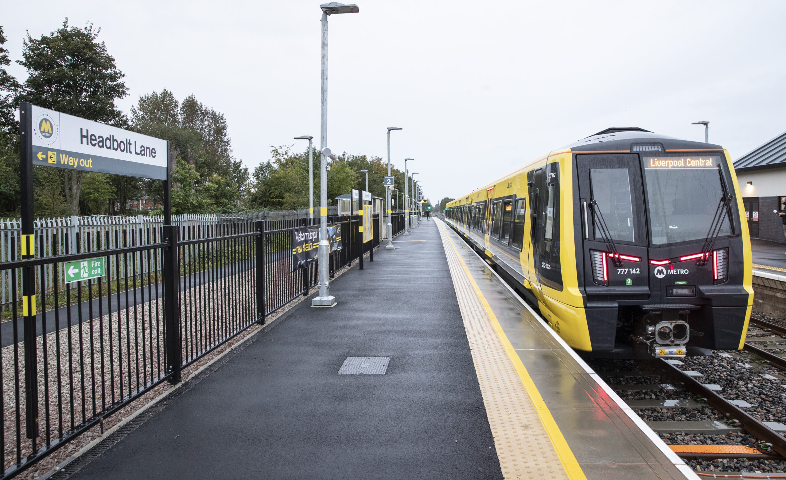
{"label": "white and grey Headbolt Lane sign board with Way out", "polygon": [[167,180],[167,141],[31,106],[33,165]]}

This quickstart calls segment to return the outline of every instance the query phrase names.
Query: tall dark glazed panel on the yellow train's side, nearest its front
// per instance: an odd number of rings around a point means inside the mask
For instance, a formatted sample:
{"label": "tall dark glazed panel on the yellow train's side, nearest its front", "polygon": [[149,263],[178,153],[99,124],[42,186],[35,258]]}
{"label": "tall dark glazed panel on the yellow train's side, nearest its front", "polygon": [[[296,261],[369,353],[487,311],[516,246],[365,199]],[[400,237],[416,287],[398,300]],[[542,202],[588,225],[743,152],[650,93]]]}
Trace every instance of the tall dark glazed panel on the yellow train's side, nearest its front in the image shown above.
{"label": "tall dark glazed panel on the yellow train's side, nearest its front", "polygon": [[[534,171],[531,204],[534,270],[542,285],[562,290],[560,262],[560,165],[547,163]],[[532,198],[532,197],[530,197]]]}

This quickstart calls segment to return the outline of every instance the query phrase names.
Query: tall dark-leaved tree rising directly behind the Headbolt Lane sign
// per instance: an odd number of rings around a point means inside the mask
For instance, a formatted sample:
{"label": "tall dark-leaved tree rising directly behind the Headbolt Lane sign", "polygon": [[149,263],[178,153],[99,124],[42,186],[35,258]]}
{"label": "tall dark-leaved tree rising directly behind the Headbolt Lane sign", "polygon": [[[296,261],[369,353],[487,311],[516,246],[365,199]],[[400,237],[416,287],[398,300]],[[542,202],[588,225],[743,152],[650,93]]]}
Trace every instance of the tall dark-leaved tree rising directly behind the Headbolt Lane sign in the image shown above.
{"label": "tall dark-leaved tree rising directly behind the Headbolt Lane sign", "polygon": [[[70,27],[68,18],[50,35],[24,40],[17,62],[28,70],[19,100],[95,122],[123,127],[127,119],[115,101],[126,96],[122,71],[107,53],[104,42],[96,42],[101,29],[93,24]],[[83,172],[64,176],[65,198],[72,213],[79,211]]]}

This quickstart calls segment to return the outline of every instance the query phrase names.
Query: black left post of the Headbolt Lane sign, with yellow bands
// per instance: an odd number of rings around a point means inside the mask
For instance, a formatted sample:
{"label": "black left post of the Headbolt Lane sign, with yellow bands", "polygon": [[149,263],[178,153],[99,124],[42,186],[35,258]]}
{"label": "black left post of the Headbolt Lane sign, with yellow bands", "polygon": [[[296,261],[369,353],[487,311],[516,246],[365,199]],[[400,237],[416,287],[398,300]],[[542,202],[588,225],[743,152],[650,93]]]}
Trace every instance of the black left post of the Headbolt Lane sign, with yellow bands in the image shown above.
{"label": "black left post of the Headbolt Lane sign, with yellow bands", "polygon": [[[19,176],[22,210],[22,232],[20,250],[22,260],[35,258],[35,225],[33,224],[33,151],[32,105],[19,104]],[[39,379],[35,335],[35,271],[33,267],[22,268],[22,315],[24,337],[24,408],[28,438],[33,441],[39,436]],[[16,322],[16,319],[14,319]]]}

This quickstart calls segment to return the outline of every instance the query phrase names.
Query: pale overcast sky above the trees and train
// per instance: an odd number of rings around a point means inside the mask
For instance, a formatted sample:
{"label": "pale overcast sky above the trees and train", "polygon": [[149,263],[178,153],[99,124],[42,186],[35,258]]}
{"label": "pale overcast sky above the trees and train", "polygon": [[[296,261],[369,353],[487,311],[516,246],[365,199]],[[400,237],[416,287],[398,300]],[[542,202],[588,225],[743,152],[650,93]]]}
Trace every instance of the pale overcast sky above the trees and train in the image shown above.
{"label": "pale overcast sky above the trees and train", "polygon": [[[25,30],[101,27],[128,111],[170,89],[221,111],[249,169],[319,138],[319,2],[2,5]],[[710,141],[738,158],[786,130],[786,2],[362,1],[330,18],[329,147],[415,158],[432,202],[609,126]],[[17,78],[24,69],[12,67]],[[305,144],[297,147],[305,148]],[[417,178],[416,177],[416,178]]]}

